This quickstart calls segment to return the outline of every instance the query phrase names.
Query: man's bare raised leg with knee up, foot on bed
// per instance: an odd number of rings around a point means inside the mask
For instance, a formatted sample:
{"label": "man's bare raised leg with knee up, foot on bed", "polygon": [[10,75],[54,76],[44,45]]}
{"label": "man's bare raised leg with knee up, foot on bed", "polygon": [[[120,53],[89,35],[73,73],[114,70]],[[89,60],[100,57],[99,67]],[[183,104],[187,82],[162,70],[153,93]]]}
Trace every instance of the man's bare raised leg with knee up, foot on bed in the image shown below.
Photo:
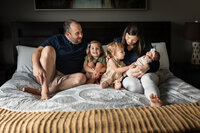
{"label": "man's bare raised leg with knee up, foot on bed", "polygon": [[46,46],[43,48],[40,57],[40,63],[42,68],[46,72],[46,79],[44,79],[41,92],[41,99],[49,99],[49,83],[55,76],[55,61],[56,52],[53,47]]}

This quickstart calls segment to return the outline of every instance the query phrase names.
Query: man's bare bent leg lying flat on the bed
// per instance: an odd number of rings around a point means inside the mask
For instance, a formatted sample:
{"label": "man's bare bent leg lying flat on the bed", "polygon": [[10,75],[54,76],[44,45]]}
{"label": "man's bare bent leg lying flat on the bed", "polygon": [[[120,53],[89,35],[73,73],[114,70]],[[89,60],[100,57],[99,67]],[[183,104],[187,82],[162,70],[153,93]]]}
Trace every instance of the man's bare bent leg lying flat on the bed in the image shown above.
{"label": "man's bare bent leg lying flat on the bed", "polygon": [[76,87],[85,84],[86,76],[83,73],[70,74],[68,78],[64,79],[58,86],[50,87],[50,93],[66,90],[72,87]]}

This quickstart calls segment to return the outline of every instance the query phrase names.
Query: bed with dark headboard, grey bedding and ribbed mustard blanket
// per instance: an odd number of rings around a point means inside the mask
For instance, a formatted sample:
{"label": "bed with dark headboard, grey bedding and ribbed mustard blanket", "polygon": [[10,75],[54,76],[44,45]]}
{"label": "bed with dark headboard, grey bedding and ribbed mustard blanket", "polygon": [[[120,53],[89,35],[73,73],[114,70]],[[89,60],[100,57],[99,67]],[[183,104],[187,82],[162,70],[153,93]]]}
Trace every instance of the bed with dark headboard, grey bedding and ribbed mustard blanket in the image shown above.
{"label": "bed with dark headboard, grey bedding and ribbed mustard blanket", "polygon": [[[130,22],[80,22],[86,41],[106,46],[120,37]],[[77,86],[53,94],[49,100],[22,92],[40,89],[32,75],[31,55],[51,35],[63,33],[63,22],[12,22],[16,71],[0,87],[0,132],[198,132],[200,89],[171,73],[170,22],[137,22],[145,39],[160,52],[159,88],[164,106],[150,107],[142,94],[125,89]]]}

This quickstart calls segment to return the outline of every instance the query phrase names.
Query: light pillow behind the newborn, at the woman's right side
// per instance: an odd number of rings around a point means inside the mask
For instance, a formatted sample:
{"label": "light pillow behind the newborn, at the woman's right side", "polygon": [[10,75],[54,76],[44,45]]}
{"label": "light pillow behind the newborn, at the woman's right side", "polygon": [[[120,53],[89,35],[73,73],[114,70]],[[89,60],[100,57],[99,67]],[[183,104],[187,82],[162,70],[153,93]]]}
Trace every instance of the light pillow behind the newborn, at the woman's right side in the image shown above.
{"label": "light pillow behind the newborn, at the woman's right side", "polygon": [[160,69],[169,69],[169,58],[165,42],[151,43],[151,45],[160,53]]}

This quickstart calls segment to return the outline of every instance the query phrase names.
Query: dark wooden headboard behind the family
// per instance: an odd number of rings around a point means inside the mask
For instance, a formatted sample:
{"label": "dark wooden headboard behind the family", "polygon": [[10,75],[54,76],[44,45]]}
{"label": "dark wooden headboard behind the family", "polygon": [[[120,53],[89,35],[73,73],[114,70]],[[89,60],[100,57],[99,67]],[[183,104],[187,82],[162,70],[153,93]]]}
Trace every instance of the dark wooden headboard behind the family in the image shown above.
{"label": "dark wooden headboard behind the family", "polygon": [[[80,22],[83,38],[108,44],[115,37],[121,37],[125,27],[131,22]],[[143,25],[145,40],[166,42],[170,55],[170,22],[137,22]],[[47,38],[63,33],[63,22],[12,22],[12,41],[16,63],[16,45],[37,47]],[[169,58],[170,59],[170,58]]]}

